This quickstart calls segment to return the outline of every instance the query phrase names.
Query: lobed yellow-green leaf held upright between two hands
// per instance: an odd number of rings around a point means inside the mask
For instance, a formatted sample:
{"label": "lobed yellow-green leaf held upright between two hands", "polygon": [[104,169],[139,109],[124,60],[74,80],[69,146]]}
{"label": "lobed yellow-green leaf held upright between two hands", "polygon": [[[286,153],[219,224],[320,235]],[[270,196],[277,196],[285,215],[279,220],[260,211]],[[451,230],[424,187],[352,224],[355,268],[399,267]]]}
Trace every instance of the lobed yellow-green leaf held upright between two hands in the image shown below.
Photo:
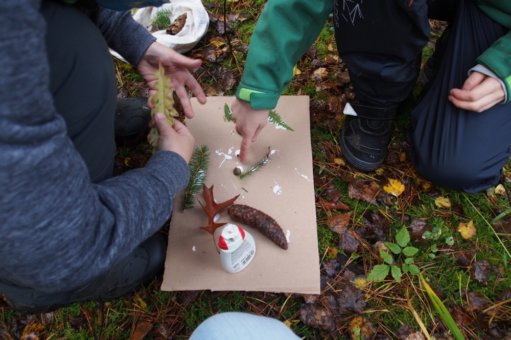
{"label": "lobed yellow-green leaf held upright between two hands", "polygon": [[179,114],[173,107],[174,99],[172,98],[173,90],[169,85],[170,78],[165,75],[165,67],[161,65],[161,61],[159,62],[158,70],[154,73],[154,77],[157,79],[154,84],[156,93],[151,97],[151,104],[153,104],[153,108],[151,110],[151,125],[154,127],[151,128],[151,131],[147,136],[149,144],[153,147],[153,153],[158,150],[159,139],[154,115],[158,112],[165,114],[165,117],[167,117],[167,121],[171,126],[174,125],[174,117],[179,117]]}

